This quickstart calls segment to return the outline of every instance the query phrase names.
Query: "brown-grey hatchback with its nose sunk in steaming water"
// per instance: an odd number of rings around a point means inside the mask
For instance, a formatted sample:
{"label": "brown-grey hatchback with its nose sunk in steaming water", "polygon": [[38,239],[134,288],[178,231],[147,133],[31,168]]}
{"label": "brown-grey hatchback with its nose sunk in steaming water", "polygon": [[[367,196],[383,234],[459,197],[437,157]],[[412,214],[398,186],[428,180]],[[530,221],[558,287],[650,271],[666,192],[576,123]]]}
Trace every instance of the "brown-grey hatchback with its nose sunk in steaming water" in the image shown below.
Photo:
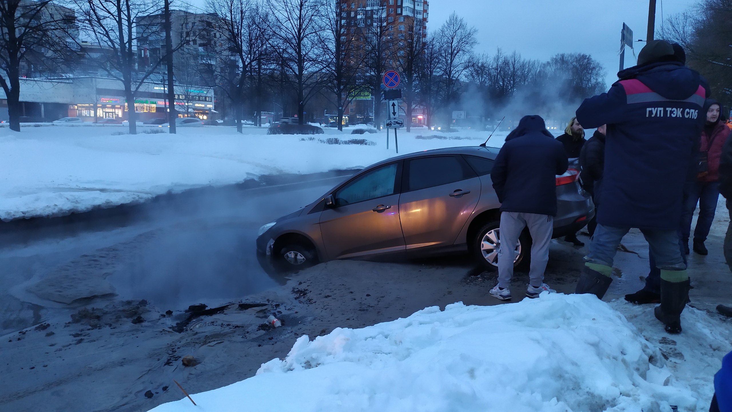
{"label": "brown-grey hatchback with its nose sunk in steaming water", "polygon": [[[498,264],[500,216],[490,180],[495,147],[449,147],[373,164],[296,212],[260,228],[257,251],[293,268],[385,254],[468,251]],[[569,169],[556,177],[553,238],[575,233],[594,205]],[[520,235],[514,264],[529,265],[531,235]]]}

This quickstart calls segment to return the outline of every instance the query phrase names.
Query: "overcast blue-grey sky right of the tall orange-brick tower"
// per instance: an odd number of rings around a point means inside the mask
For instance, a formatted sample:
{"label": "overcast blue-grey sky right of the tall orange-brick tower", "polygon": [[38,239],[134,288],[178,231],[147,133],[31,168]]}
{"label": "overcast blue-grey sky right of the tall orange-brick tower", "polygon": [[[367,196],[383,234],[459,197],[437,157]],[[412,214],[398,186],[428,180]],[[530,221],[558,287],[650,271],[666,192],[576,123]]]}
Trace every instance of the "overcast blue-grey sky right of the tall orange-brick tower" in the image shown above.
{"label": "overcast blue-grey sky right of the tall orange-brick tower", "polygon": [[[656,30],[663,17],[684,12],[696,0],[658,0]],[[436,30],[452,12],[478,29],[478,52],[496,48],[518,51],[529,59],[547,60],[557,53],[587,53],[608,72],[608,87],[617,80],[620,31],[625,22],[635,40],[646,40],[648,0],[430,0],[428,30]],[[635,54],[646,43],[635,43]],[[625,67],[635,65],[630,49]]]}

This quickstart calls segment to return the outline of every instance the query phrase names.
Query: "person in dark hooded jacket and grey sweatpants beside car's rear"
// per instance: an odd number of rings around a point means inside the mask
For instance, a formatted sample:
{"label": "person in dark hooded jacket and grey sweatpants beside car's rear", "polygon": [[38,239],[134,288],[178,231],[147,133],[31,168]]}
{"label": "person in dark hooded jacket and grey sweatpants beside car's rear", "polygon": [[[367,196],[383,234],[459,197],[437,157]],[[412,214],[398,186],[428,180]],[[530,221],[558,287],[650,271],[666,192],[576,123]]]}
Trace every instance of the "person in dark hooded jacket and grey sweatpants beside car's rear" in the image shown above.
{"label": "person in dark hooded jacket and grey sweatpants beside car's rear", "polygon": [[490,179],[501,202],[498,284],[490,295],[509,300],[516,243],[524,227],[531,234],[531,268],[526,296],[555,290],[544,283],[556,216],[556,174],[567,171],[567,155],[546,130],[544,119],[525,116],[496,156]]}

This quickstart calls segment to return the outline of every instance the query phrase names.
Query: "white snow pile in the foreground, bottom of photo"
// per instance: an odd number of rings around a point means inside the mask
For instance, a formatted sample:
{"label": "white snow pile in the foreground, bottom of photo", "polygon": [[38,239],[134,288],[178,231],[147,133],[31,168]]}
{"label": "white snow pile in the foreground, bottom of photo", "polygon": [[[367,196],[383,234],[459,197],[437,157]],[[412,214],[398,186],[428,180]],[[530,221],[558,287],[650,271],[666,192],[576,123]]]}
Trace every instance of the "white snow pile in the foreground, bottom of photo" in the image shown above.
{"label": "white snow pile in the foreground, bottom of photo", "polygon": [[430,307],[301,336],[285,360],[153,411],[701,411],[660,350],[592,295]]}

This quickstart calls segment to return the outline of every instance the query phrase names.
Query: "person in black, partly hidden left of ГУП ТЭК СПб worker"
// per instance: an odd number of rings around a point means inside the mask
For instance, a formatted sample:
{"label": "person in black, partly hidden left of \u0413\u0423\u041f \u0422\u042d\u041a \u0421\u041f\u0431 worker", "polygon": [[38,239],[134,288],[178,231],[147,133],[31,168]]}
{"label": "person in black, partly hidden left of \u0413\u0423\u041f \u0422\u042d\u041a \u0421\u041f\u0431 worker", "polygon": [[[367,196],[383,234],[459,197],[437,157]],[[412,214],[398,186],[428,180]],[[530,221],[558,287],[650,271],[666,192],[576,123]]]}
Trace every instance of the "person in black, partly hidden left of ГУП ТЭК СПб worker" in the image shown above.
{"label": "person in black, partly hidden left of \u0413\u0423\u041f \u0422\u042d\u041a \u0421\u041f\u0431 worker", "polygon": [[587,232],[594,234],[597,227],[597,207],[600,207],[600,185],[602,185],[602,171],[605,169],[605,133],[608,125],[602,125],[582,147],[580,151],[580,179],[583,188],[592,196],[595,205],[595,216],[587,223]]}

